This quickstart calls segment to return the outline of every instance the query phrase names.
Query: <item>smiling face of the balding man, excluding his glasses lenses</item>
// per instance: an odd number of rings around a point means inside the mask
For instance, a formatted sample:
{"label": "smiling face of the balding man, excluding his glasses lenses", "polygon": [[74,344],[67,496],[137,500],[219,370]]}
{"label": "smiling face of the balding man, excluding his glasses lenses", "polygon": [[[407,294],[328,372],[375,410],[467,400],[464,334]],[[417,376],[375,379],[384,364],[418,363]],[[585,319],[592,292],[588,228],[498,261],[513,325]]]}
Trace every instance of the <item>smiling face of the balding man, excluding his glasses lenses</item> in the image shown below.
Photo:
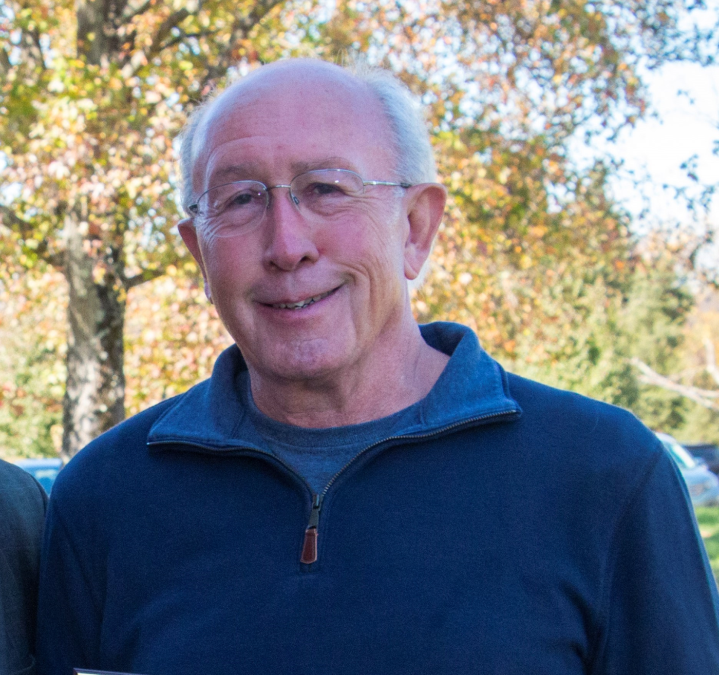
{"label": "smiling face of the balding man, excluding his glasses lenses", "polygon": [[[387,123],[362,87],[309,70],[260,75],[198,129],[196,193],[231,180],[288,185],[309,169],[393,180]],[[262,224],[213,239],[183,231],[219,316],[251,372],[307,380],[352,367],[391,339],[406,307],[408,232],[401,188],[367,187],[351,214],[307,219],[286,188]],[[188,234],[190,235],[188,237]],[[280,305],[316,301],[302,308]]]}

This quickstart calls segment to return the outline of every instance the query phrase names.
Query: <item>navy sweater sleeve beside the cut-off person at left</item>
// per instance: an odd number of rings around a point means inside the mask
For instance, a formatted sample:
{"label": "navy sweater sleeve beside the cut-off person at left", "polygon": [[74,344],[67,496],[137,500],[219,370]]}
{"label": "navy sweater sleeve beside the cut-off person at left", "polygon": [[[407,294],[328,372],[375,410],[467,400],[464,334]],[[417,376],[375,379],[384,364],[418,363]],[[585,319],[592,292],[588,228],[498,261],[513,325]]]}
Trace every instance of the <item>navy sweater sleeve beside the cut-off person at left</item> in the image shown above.
{"label": "navy sweater sleeve beside the cut-off person at left", "polygon": [[[93,541],[83,545],[92,549]],[[40,561],[37,675],[71,675],[73,668],[93,667],[101,609],[81,553],[58,503],[50,499]]]}

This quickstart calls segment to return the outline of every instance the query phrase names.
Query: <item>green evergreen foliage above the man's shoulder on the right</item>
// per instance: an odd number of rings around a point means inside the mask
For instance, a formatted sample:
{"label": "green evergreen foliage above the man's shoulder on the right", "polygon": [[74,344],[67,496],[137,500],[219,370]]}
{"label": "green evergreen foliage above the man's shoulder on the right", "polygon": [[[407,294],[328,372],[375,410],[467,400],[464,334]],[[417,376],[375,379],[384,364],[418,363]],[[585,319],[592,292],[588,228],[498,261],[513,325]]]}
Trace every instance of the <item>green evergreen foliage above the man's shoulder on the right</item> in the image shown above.
{"label": "green evergreen foliage above the man's shoulder on the right", "polygon": [[595,283],[583,318],[561,358],[534,366],[512,362],[523,375],[633,410],[653,428],[682,423],[682,399],[643,385],[629,362],[638,357],[662,372],[679,367],[684,321],[692,295],[672,269],[674,260],[628,261],[617,285]]}

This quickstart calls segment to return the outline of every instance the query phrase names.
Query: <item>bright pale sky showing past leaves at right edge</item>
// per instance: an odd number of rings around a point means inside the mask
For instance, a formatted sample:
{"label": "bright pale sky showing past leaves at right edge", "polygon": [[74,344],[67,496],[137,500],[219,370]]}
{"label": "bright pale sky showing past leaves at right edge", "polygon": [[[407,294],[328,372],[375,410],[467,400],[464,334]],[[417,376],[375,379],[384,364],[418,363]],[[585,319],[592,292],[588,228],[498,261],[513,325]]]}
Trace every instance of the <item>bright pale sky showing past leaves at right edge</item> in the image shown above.
{"label": "bright pale sky showing past leaves at right edge", "polygon": [[[679,20],[687,32],[718,24],[719,0],[705,0],[703,9]],[[649,93],[644,119],[623,129],[615,142],[600,139],[589,148],[577,142],[574,157],[581,164],[609,155],[621,163],[610,178],[610,191],[631,214],[636,233],[679,224],[697,234],[714,231],[719,240],[719,65],[667,63],[640,75]],[[682,167],[686,162],[697,180]],[[694,213],[674,189],[696,198],[702,185],[713,184],[717,194],[709,210]],[[719,241],[703,247],[697,262],[717,270]]]}

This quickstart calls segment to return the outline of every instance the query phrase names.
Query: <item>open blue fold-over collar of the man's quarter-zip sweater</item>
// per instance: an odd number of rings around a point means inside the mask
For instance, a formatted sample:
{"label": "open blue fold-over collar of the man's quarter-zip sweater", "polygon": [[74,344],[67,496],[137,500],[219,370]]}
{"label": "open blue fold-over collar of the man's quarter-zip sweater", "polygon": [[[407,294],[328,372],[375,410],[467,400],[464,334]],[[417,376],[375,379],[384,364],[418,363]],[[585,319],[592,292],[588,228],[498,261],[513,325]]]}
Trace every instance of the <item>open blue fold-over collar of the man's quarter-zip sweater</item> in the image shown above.
{"label": "open blue fold-over collar of the man's quarter-zip sweater", "polygon": [[[441,321],[427,323],[420,330],[429,346],[450,358],[421,401],[421,424],[409,433],[521,414],[504,370],[482,349],[472,330]],[[148,444],[182,443],[218,450],[254,447],[243,438],[246,411],[237,385],[239,373],[246,369],[237,345],[225,349],[215,362],[212,377],[178,396],[175,405],[155,421]]]}

